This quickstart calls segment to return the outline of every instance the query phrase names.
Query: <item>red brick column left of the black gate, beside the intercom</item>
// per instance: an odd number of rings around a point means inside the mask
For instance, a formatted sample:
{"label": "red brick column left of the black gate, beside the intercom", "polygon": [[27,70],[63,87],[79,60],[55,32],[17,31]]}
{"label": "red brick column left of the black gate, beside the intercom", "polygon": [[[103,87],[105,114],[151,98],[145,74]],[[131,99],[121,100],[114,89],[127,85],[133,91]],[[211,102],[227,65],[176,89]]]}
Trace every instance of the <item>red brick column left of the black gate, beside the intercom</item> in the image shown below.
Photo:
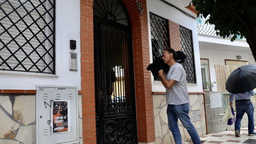
{"label": "red brick column left of the black gate, beside the intercom", "polygon": [[93,1],[81,0],[80,6],[83,143],[96,144]]}

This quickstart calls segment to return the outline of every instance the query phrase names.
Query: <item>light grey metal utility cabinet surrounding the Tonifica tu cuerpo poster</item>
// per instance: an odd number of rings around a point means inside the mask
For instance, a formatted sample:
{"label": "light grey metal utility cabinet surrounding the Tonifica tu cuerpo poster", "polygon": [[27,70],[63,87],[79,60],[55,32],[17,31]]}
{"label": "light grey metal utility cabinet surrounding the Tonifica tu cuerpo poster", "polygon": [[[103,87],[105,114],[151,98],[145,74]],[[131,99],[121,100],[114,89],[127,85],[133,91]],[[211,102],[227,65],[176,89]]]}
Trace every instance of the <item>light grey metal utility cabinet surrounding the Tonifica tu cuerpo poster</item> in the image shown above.
{"label": "light grey metal utility cabinet surrounding the Tonifica tu cuerpo poster", "polygon": [[[36,86],[36,144],[79,143],[78,90],[76,86]],[[51,134],[51,103],[70,101],[70,132]]]}

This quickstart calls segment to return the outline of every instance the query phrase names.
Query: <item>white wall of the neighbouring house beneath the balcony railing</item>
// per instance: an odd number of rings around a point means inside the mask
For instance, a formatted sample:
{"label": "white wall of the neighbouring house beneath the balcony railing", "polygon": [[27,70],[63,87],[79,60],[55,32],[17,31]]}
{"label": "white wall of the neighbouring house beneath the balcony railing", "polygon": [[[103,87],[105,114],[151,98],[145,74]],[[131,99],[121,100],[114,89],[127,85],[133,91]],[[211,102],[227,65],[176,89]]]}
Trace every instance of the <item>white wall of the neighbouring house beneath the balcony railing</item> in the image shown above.
{"label": "white wall of the neighbouring house beneath the balcony railing", "polygon": [[[241,56],[240,60],[248,61],[250,64],[256,64],[253,58],[253,55],[250,51],[250,48],[240,47],[237,49],[234,46],[227,45],[214,45],[211,43],[201,43],[199,42],[200,47],[200,58],[208,58],[209,59],[209,69],[210,69],[210,77],[211,82],[216,81],[215,74],[215,64],[225,65],[225,59],[237,60],[236,56]],[[217,85],[214,84],[212,89],[213,91],[217,91]]]}

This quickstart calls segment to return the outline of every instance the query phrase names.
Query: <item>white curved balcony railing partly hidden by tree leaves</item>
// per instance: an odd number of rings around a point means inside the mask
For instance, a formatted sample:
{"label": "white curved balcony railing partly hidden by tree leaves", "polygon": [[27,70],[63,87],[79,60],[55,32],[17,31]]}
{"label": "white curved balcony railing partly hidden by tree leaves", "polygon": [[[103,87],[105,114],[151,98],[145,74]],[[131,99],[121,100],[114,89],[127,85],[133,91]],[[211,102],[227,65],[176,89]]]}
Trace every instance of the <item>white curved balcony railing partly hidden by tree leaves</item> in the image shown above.
{"label": "white curved balcony railing partly hidden by tree leaves", "polygon": [[[216,34],[217,31],[215,31],[214,29],[215,27],[214,24],[209,24],[209,23],[205,24],[205,21],[209,19],[209,16],[210,15],[208,15],[205,19],[204,17],[201,18],[201,15],[199,15],[199,17],[196,19],[198,34],[221,37]],[[233,35],[230,35],[227,38],[231,38],[232,36]],[[241,39],[240,36],[238,36],[236,40],[246,40],[246,39],[244,37]]]}

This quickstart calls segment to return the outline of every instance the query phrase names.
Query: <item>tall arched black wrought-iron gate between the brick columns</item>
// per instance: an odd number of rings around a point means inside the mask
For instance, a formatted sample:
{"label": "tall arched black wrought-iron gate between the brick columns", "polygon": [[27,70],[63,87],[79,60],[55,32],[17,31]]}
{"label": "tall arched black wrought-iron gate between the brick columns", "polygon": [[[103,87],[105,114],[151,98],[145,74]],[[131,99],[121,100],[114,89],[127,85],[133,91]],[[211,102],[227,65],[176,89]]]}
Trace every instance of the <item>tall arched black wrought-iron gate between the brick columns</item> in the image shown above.
{"label": "tall arched black wrought-iron gate between the brick columns", "polygon": [[129,17],[118,20],[127,16],[119,0],[95,0],[93,8],[97,143],[138,143]]}

